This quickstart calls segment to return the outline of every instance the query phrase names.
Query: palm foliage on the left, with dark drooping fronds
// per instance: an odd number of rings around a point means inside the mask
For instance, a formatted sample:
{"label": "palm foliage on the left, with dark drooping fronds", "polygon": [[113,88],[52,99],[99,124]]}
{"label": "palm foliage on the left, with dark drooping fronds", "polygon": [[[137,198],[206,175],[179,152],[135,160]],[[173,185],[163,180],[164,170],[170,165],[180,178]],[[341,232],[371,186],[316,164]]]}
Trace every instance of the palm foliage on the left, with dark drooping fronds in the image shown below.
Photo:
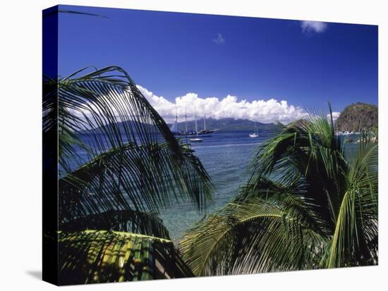
{"label": "palm foliage on the left, with dark drooping fronds", "polygon": [[59,283],[193,275],[157,213],[187,201],[204,211],[209,175],[123,69],[84,72],[43,84],[44,138],[58,139],[45,166],[59,163],[58,231],[44,242],[58,242]]}

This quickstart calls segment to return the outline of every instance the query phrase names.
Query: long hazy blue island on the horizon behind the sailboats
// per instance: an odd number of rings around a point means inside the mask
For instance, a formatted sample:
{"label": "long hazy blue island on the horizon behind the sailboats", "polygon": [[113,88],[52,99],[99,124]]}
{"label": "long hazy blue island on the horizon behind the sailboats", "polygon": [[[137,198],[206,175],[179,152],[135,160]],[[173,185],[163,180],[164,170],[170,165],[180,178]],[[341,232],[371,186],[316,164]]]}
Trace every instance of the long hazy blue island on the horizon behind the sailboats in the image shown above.
{"label": "long hazy blue island on the horizon behind the sailboats", "polygon": [[[198,131],[204,129],[203,124],[203,118],[200,118],[198,121]],[[169,127],[171,127],[172,123],[168,124]],[[209,129],[215,129],[220,128],[221,130],[226,131],[238,131],[238,130],[254,130],[255,125],[257,126],[257,130],[260,131],[280,131],[284,125],[281,123],[260,123],[260,122],[254,122],[248,119],[234,119],[234,118],[206,118],[206,128]],[[178,122],[178,129],[184,130],[185,129],[185,122],[181,121]],[[194,130],[195,124],[194,120],[188,120],[187,121],[187,128],[188,130]]]}

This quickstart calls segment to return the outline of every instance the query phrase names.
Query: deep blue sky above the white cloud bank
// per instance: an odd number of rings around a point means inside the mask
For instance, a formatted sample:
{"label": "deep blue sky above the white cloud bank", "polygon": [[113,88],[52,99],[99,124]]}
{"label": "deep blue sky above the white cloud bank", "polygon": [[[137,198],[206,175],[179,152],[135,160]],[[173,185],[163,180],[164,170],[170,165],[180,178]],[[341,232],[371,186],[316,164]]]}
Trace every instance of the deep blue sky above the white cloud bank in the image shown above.
{"label": "deep blue sky above the white cloud bank", "polygon": [[356,101],[377,104],[374,25],[61,8],[106,18],[60,13],[59,74],[118,65],[154,104],[160,97],[175,103],[190,92],[196,97],[189,99],[202,104],[207,97],[222,104],[230,95],[234,104],[245,100],[241,106],[260,112],[271,109],[253,102],[270,99],[286,101],[295,112],[304,106],[326,108],[327,101],[334,111]]}

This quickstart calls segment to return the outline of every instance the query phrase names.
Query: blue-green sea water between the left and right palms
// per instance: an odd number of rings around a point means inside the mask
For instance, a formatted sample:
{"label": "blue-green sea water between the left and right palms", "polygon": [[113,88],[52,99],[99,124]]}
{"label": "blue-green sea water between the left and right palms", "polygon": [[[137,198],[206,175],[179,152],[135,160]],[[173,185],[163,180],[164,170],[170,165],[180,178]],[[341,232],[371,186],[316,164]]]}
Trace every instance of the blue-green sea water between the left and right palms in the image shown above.
{"label": "blue-green sea water between the left and right palms", "polygon": [[[203,137],[203,142],[191,143],[195,155],[200,158],[214,184],[214,206],[207,209],[212,213],[236,196],[238,187],[249,178],[249,165],[257,147],[274,132],[259,132],[259,137],[249,137],[250,131],[214,132]],[[186,138],[183,137],[183,142]],[[188,139],[187,142],[190,143]],[[205,214],[198,213],[190,203],[175,204],[159,215],[168,228],[172,240],[177,242],[188,228]]]}

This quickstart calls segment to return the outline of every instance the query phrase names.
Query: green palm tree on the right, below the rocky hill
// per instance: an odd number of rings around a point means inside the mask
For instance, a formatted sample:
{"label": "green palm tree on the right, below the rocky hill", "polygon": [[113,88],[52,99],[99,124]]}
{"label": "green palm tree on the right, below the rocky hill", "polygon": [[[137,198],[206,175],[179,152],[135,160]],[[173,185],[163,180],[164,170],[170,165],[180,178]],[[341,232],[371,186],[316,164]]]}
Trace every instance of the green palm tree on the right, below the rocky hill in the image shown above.
{"label": "green palm tree on the right, below the rocky hill", "polygon": [[183,237],[195,275],[377,264],[377,139],[333,128],[310,114],[260,147],[234,201]]}

